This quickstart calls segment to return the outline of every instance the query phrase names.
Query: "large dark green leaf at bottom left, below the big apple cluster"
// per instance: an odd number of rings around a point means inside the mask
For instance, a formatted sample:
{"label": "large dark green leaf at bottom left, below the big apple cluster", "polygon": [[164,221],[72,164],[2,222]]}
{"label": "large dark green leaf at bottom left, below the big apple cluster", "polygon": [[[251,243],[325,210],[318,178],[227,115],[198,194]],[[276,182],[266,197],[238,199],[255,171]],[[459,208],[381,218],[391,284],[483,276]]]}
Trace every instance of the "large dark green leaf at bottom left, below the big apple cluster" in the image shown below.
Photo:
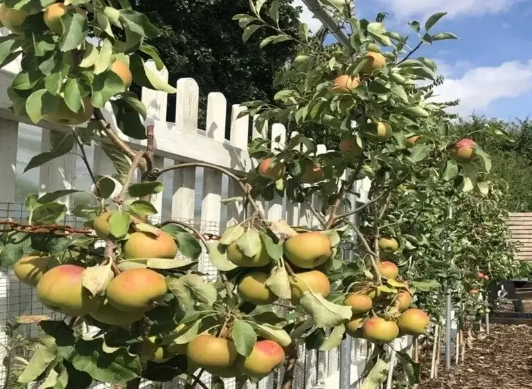
{"label": "large dark green leaf at bottom left, below the big apple cluster", "polygon": [[103,338],[80,339],[69,359],[76,370],[111,385],[125,384],[141,374],[139,356],[130,354],[125,347],[112,353],[103,352]]}

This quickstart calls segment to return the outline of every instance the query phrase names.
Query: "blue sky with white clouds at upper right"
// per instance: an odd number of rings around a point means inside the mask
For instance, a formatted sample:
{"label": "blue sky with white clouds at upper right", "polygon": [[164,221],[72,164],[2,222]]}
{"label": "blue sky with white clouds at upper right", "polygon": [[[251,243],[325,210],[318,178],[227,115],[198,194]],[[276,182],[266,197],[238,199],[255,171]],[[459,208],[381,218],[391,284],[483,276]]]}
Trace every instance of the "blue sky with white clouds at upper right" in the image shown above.
{"label": "blue sky with white clouds at upper right", "polygon": [[[446,80],[436,92],[441,100],[460,98],[461,114],[532,116],[532,1],[355,1],[357,17],[374,19],[380,11],[389,12],[387,28],[402,34],[411,31],[406,25],[411,19],[423,25],[432,13],[448,12],[431,33],[448,31],[459,39],[425,45],[418,53],[436,61]],[[309,12],[302,19],[311,29],[319,24]],[[409,42],[416,44],[417,37]]]}

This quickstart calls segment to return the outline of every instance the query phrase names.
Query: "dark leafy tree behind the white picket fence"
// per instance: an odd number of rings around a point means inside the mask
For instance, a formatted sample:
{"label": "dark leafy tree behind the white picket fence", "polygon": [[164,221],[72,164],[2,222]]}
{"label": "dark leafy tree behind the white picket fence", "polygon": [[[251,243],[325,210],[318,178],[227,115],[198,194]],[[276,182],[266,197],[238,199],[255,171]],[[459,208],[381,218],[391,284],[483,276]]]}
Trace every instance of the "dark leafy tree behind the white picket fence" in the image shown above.
{"label": "dark leafy tree behind the white picket fence", "polygon": [[[301,7],[294,8],[292,3],[279,1],[279,26],[294,34],[300,26]],[[257,43],[268,36],[265,28],[249,44],[242,42],[242,28],[231,18],[249,10],[248,0],[136,0],[133,6],[161,30],[150,44],[159,50],[170,80],[190,77],[199,84],[200,125],[204,124],[208,92],[224,93],[229,104],[272,100],[275,75],[296,51],[292,43],[261,49]],[[168,116],[174,114],[175,96],[169,96]]]}

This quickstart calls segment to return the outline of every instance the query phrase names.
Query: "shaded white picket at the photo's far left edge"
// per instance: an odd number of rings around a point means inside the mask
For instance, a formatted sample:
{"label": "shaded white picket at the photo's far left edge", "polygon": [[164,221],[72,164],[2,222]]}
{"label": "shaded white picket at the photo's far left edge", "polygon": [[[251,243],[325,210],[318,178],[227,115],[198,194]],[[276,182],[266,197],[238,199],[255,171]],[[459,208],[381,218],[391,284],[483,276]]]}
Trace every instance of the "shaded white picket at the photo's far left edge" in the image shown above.
{"label": "shaded white picket at the photo's far left edge", "polygon": [[3,183],[12,183],[0,185],[0,201],[15,201],[19,123],[0,119],[0,134],[0,177]]}

